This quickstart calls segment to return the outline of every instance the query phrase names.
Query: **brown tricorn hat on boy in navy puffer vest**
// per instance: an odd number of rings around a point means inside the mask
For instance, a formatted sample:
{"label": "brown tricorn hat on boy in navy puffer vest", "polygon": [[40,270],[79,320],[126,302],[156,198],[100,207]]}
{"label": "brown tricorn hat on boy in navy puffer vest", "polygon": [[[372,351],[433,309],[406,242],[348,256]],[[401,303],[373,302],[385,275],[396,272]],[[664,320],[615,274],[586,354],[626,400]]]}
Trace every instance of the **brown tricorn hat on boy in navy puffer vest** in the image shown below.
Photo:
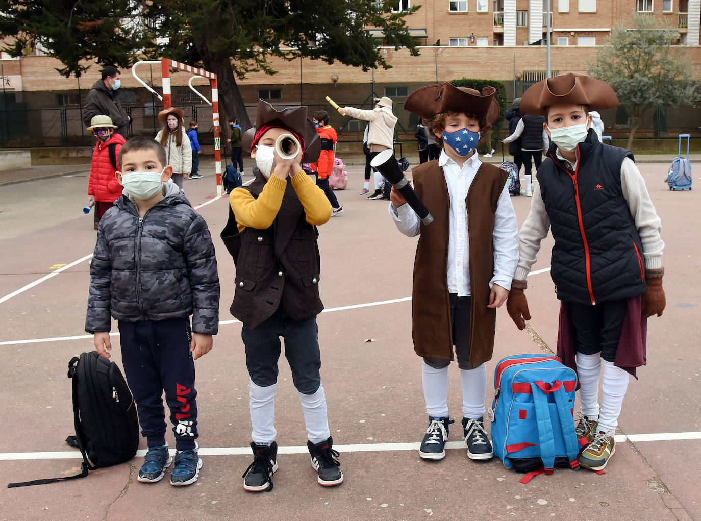
{"label": "brown tricorn hat on boy in navy puffer vest", "polygon": [[563,103],[604,110],[618,107],[618,97],[606,81],[570,72],[531,85],[521,97],[521,111],[545,116],[545,107]]}

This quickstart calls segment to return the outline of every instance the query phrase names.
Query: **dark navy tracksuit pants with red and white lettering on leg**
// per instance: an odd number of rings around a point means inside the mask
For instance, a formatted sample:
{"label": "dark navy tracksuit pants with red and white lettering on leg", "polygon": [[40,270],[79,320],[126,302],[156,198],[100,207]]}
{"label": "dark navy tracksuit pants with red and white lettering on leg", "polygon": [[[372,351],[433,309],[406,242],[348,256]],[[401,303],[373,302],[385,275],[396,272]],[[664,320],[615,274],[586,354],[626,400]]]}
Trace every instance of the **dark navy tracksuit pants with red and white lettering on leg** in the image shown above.
{"label": "dark navy tracksuit pants with red and white lettering on leg", "polygon": [[189,318],[119,321],[122,364],[149,448],[165,445],[163,391],[175,448],[194,449],[197,433],[195,364]]}

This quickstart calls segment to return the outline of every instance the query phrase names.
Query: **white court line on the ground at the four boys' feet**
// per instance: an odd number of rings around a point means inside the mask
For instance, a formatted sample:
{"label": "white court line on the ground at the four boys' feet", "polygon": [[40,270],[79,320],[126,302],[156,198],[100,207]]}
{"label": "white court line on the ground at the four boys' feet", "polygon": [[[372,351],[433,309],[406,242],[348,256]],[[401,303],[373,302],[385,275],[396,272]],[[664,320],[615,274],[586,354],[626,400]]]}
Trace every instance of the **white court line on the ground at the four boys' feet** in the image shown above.
{"label": "white court line on the ground at the four boys' feet", "polygon": [[[651,434],[617,434],[617,443],[630,440],[632,442],[646,441],[676,441],[676,440],[701,440],[701,431],[686,433],[651,433]],[[334,445],[334,449],[341,453],[351,452],[393,452],[418,450],[419,442],[411,443],[356,443],[351,445]],[[446,449],[464,449],[465,442],[449,441]],[[139,449],[136,456],[145,456],[147,449]],[[170,449],[175,454],[175,449]],[[251,447],[200,447],[200,456],[245,456],[251,453]],[[278,454],[308,454],[306,445],[292,447],[278,447]],[[82,459],[81,453],[76,450],[57,452],[4,452],[0,453],[0,461],[26,461],[29,459]]]}

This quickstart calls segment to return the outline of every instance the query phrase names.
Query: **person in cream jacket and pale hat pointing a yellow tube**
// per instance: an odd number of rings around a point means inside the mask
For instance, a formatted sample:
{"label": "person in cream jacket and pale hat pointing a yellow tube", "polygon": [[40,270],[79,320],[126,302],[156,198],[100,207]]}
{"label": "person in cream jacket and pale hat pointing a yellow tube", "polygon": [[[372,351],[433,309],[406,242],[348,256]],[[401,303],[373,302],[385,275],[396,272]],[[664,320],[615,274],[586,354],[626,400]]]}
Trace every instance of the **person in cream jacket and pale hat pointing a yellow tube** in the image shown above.
{"label": "person in cream jacket and pale hat pointing a yellow tube", "polygon": [[[343,107],[343,114],[351,118],[368,121],[367,147],[370,149],[370,161],[383,150],[394,148],[394,128],[397,124],[397,116],[392,113],[392,100],[387,96],[375,99],[375,108],[372,110]],[[369,180],[367,181],[369,185]],[[375,191],[368,199],[382,198],[382,175],[375,170]],[[367,189],[368,186],[365,187]],[[365,192],[365,189],[363,191]],[[369,192],[367,192],[369,193]],[[362,194],[365,195],[365,194]]]}

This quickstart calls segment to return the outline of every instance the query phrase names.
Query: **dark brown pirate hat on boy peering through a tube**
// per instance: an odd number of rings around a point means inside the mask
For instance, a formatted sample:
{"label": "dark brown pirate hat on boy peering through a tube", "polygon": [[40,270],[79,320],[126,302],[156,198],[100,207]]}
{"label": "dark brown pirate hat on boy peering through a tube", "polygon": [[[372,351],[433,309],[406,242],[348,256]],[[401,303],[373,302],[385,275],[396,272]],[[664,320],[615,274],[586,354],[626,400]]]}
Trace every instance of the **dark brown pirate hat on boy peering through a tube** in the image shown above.
{"label": "dark brown pirate hat on boy peering through a tube", "polygon": [[292,130],[304,140],[304,156],[302,163],[313,163],[321,154],[321,141],[314,123],[307,117],[307,107],[287,107],[280,111],[270,103],[258,100],[256,128],[249,128],[243,135],[242,146],[250,151],[256,130],[266,125],[285,127]]}

